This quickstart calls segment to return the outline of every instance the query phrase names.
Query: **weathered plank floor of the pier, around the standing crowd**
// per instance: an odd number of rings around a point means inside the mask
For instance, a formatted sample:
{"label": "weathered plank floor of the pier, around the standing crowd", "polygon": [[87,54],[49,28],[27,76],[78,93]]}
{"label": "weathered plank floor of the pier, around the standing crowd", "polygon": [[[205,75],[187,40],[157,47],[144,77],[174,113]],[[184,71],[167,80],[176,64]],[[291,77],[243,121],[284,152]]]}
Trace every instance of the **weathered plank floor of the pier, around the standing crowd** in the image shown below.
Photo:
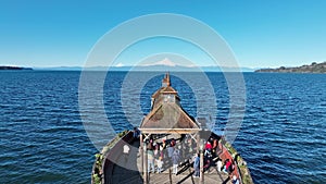
{"label": "weathered plank floor of the pier, around the standing crowd", "polygon": [[[139,142],[135,142],[131,145],[128,162],[125,165],[123,157],[118,157],[116,163],[113,165],[112,174],[105,173],[106,181],[111,181],[114,184],[140,184],[143,183],[143,179],[140,171],[140,154],[137,149]],[[149,183],[151,184],[199,184],[200,179],[193,177],[193,170],[191,167],[179,167],[178,174],[171,174],[170,169],[166,168],[162,173],[150,173]],[[228,174],[224,172],[217,172],[215,167],[210,168],[204,174],[205,184],[228,184],[230,183]]]}

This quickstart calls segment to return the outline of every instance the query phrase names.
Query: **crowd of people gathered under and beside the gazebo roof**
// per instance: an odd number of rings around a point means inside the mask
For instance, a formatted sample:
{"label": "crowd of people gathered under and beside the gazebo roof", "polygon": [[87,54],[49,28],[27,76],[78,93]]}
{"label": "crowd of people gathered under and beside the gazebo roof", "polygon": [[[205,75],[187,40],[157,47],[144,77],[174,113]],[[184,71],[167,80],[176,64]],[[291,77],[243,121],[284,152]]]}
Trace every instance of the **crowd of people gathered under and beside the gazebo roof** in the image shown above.
{"label": "crowd of people gathered under and beside the gazebo roof", "polygon": [[[134,138],[139,138],[140,132],[136,127],[134,128]],[[149,138],[147,145],[148,156],[148,172],[161,173],[166,168],[173,168],[172,173],[178,173],[178,165],[180,163],[193,163],[193,176],[200,176],[200,155],[197,152],[196,142],[188,135],[181,137],[183,142],[177,142],[174,138],[171,139],[156,139]],[[159,140],[159,142],[158,142]],[[161,142],[160,142],[161,140]],[[231,173],[235,169],[233,160],[226,159],[224,163],[220,159],[218,155],[222,152],[221,139],[210,137],[204,144],[203,150],[203,170],[210,170],[215,164],[218,172]],[[215,167],[215,165],[214,165]],[[238,179],[233,177],[233,183],[238,182]]]}

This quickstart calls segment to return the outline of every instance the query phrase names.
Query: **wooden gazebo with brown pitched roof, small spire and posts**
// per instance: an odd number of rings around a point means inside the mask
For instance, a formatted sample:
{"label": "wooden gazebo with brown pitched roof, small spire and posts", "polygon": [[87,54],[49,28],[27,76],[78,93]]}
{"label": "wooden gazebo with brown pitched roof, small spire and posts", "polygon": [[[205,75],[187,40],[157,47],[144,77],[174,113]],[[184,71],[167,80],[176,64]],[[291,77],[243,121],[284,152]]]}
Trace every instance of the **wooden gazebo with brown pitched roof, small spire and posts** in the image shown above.
{"label": "wooden gazebo with brown pitched roof, small spire and posts", "polygon": [[[171,86],[168,73],[165,74],[162,81],[162,87],[152,95],[151,111],[142,119],[139,130],[141,131],[140,165],[143,173],[145,183],[149,182],[147,172],[147,140],[150,136],[163,135],[167,137],[190,135],[191,138],[196,140],[197,151],[199,151],[199,132],[201,131],[201,127],[196,120],[181,108],[178,93]],[[201,179],[203,179],[202,174],[203,173],[201,172]]]}

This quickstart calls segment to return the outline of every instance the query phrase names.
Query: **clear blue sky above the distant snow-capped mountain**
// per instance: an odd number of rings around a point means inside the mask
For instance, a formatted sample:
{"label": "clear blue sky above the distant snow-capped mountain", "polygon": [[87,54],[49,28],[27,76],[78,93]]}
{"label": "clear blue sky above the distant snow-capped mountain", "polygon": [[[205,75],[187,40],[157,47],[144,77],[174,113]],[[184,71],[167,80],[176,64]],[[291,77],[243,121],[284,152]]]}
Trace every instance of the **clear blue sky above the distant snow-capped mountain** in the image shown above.
{"label": "clear blue sky above the distant snow-capped mountain", "polygon": [[[324,0],[1,0],[0,65],[83,66],[105,33],[130,19],[153,13],[183,14],[209,25],[243,68],[323,62],[325,8]],[[195,59],[208,65],[204,53],[180,40],[143,40],[133,47],[117,59],[117,65],[155,52],[180,52],[189,58],[196,53]]]}

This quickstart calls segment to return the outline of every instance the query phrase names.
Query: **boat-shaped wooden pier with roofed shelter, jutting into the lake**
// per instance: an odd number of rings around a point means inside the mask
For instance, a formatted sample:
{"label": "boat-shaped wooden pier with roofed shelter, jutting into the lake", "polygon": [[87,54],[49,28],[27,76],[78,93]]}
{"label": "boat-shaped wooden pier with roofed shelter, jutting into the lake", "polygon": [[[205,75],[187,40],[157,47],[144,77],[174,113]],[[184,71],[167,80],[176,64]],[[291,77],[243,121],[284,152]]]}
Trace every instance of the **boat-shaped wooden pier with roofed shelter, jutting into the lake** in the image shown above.
{"label": "boat-shaped wooden pier with roofed shelter, jutting into the lake", "polygon": [[[204,119],[196,120],[181,108],[178,93],[171,86],[168,73],[162,81],[162,87],[152,95],[151,111],[141,121],[139,131],[139,137],[135,136],[138,134],[127,132],[117,137],[117,142],[112,140],[114,143],[109,144],[111,146],[108,149],[103,148],[101,155],[104,159],[103,162],[96,161],[92,183],[228,184],[231,183],[231,176],[235,176],[239,183],[252,184],[249,170],[239,155],[229,152],[231,149],[225,147],[223,137],[206,128]],[[129,148],[127,157],[123,152],[125,146]],[[155,159],[161,157],[164,160],[161,173],[148,172],[149,161],[153,160],[149,158],[154,158],[153,151],[156,151]],[[198,176],[193,174],[193,156],[197,161],[200,160]],[[229,169],[229,173],[217,171],[217,159],[231,162],[234,168]],[[238,161],[242,170],[238,168]],[[176,174],[172,173],[172,162],[175,165],[178,163]],[[246,176],[246,180],[242,181],[241,176]]]}

